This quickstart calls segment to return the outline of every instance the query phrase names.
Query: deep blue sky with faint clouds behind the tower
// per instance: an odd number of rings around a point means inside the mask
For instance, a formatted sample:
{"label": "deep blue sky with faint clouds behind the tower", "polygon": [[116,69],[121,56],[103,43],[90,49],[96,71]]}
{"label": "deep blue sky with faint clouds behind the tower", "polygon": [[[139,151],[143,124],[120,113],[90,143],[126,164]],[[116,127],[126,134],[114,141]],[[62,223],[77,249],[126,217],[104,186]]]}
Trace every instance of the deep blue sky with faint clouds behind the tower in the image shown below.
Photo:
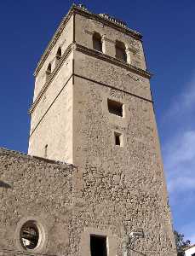
{"label": "deep blue sky with faint clouds behind the tower", "polygon": [[[77,1],[75,1],[77,3]],[[175,229],[195,242],[195,1],[87,1],[144,38]],[[33,71],[72,1],[0,3],[0,145],[26,152]]]}

